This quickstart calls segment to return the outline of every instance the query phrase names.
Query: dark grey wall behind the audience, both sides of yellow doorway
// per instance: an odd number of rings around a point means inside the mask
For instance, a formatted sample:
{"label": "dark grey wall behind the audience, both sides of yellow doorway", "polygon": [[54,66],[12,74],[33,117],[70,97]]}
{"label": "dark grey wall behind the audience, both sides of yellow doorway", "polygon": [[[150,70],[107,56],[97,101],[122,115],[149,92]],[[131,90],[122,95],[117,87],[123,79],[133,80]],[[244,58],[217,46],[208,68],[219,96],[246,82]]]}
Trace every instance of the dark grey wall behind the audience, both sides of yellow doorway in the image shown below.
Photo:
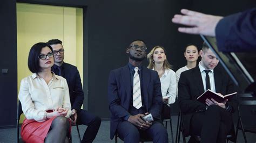
{"label": "dark grey wall behind the audience, both sides of yellow doorway", "polygon": [[[177,32],[178,25],[171,23],[174,14],[181,8],[198,10],[215,15],[228,15],[255,6],[254,0],[203,1],[203,0],[129,0],[129,1],[72,1],[72,0],[19,0],[37,4],[77,6],[86,4],[84,11],[84,89],[88,96],[86,108],[102,118],[109,118],[107,102],[107,79],[109,71],[126,65],[125,49],[133,39],[143,39],[147,47],[161,45],[167,49],[167,59],[173,70],[186,65],[183,49],[187,43],[201,45],[198,35]],[[4,0],[0,5],[0,40],[2,43],[0,69],[9,68],[9,73],[0,73],[0,111],[3,120],[0,126],[15,124],[17,99],[17,30],[16,1]],[[84,8],[84,7],[83,7]],[[85,9],[85,8],[84,8]],[[147,65],[147,61],[144,61]],[[177,112],[177,104],[173,112]]]}

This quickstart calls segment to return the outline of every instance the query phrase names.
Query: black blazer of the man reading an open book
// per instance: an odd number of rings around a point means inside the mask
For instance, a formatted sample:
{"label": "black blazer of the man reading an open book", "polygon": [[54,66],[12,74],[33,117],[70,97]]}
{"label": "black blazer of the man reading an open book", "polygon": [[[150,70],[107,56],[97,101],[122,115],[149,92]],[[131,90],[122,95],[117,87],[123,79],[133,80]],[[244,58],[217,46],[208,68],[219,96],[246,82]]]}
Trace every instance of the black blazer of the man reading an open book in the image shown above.
{"label": "black blazer of the man reading an open book", "polygon": [[[227,74],[219,69],[214,69],[215,90],[223,95],[234,92],[234,86]],[[204,111],[206,104],[197,101],[197,97],[204,93],[204,85],[199,67],[183,71],[178,83],[179,108],[183,113],[184,134],[189,135],[190,120],[194,112]],[[238,102],[235,99],[227,101],[226,105],[237,109]]]}

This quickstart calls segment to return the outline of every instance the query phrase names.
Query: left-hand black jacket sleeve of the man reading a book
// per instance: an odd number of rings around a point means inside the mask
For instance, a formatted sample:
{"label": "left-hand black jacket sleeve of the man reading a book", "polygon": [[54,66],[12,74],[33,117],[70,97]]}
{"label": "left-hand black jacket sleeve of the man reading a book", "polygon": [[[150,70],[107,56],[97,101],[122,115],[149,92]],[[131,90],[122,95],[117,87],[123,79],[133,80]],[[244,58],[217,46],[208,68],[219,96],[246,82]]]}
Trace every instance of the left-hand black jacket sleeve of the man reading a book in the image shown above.
{"label": "left-hand black jacket sleeve of the man reading a book", "polygon": [[[198,102],[196,99],[192,99],[190,93],[190,83],[188,82],[188,78],[186,75],[181,73],[178,83],[178,101],[181,112],[195,112],[198,110],[205,110],[206,105]],[[192,78],[192,77],[190,77]]]}

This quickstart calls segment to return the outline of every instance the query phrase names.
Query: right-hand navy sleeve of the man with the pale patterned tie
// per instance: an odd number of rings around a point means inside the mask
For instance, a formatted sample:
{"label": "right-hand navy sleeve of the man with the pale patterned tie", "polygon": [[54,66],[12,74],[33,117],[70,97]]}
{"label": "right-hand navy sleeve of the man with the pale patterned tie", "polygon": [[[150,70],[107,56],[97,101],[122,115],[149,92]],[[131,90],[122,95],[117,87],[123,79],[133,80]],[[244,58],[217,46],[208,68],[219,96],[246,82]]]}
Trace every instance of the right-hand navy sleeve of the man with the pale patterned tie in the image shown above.
{"label": "right-hand navy sleeve of the man with the pale patterned tie", "polygon": [[153,104],[149,109],[149,112],[156,119],[160,119],[161,110],[163,107],[163,97],[161,94],[161,82],[157,72],[153,73],[154,77],[154,90],[153,90]]}

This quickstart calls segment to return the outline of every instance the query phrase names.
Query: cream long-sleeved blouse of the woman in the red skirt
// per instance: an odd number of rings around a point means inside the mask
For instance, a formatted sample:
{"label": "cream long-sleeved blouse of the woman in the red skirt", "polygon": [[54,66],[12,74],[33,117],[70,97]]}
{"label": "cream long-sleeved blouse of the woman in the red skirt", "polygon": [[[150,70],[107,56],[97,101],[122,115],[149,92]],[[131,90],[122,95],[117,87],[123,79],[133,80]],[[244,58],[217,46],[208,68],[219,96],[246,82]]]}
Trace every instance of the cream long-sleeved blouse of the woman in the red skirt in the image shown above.
{"label": "cream long-sleeved blouse of the woman in the red skirt", "polygon": [[66,118],[71,115],[69,87],[66,79],[54,73],[48,84],[37,74],[23,78],[18,98],[22,103],[22,111],[29,120],[44,121],[46,111],[57,107],[68,109]]}

